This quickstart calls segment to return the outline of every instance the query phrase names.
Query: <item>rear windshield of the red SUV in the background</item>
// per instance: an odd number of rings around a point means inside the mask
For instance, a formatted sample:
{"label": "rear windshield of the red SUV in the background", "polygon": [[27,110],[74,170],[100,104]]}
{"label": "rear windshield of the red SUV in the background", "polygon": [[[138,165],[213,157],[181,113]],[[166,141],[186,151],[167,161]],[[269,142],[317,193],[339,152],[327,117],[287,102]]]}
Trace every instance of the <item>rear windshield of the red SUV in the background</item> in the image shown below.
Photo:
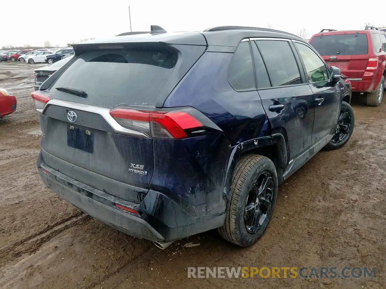
{"label": "rear windshield of the red SUV in the background", "polygon": [[363,33],[315,36],[310,44],[320,55],[367,54],[367,36]]}

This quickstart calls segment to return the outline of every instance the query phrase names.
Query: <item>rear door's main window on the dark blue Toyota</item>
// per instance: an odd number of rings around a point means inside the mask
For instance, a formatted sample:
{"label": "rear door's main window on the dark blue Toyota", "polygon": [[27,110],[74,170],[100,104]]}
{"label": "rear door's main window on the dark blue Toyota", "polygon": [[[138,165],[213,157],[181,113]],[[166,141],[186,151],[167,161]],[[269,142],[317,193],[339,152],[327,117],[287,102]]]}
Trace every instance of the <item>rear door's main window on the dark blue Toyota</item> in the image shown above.
{"label": "rear door's main window on the dark blue Toyota", "polygon": [[257,40],[272,86],[301,84],[300,72],[288,41]]}

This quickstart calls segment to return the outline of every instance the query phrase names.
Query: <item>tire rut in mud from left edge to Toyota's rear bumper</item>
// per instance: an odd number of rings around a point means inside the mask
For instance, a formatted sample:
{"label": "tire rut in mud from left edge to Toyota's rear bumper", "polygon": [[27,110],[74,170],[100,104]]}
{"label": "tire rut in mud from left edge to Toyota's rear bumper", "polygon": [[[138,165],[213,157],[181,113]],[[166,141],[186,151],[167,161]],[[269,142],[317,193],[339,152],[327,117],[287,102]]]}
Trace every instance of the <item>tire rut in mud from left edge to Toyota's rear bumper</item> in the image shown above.
{"label": "tire rut in mud from left edge to Toyota's rear bumper", "polygon": [[0,248],[0,263],[15,259],[27,252],[32,254],[36,252],[36,250],[38,250],[41,245],[59,233],[74,227],[75,225],[86,222],[89,219],[91,219],[90,216],[84,214],[83,212],[79,212],[76,215],[58,220],[43,230],[31,234],[23,239],[17,240],[12,244],[5,245],[4,247]]}

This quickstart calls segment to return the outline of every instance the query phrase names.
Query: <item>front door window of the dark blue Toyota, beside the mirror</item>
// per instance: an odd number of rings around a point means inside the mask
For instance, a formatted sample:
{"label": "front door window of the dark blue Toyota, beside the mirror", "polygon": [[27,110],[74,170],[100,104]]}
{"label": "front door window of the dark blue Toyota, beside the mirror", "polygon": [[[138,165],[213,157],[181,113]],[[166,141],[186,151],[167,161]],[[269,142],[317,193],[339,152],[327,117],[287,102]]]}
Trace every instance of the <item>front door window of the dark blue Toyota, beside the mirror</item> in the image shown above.
{"label": "front door window of the dark blue Toyota, beside the mirror", "polygon": [[304,66],[307,71],[308,81],[326,81],[328,80],[327,67],[319,56],[307,45],[295,42],[296,48],[300,52]]}

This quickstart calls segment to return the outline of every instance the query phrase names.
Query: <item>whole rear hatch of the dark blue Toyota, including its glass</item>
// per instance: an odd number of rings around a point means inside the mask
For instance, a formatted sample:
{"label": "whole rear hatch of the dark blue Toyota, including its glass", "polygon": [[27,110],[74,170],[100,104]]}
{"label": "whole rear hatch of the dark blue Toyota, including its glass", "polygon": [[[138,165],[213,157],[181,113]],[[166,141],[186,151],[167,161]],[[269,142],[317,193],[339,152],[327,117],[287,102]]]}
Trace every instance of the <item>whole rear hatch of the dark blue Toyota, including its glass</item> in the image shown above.
{"label": "whole rear hatch of the dark blue Toyota, including its glass", "polygon": [[153,133],[164,133],[143,120],[151,119],[149,111],[203,54],[201,37],[201,45],[136,42],[75,48],[73,62],[32,96],[42,112],[43,161],[86,185],[138,203],[154,170]]}

